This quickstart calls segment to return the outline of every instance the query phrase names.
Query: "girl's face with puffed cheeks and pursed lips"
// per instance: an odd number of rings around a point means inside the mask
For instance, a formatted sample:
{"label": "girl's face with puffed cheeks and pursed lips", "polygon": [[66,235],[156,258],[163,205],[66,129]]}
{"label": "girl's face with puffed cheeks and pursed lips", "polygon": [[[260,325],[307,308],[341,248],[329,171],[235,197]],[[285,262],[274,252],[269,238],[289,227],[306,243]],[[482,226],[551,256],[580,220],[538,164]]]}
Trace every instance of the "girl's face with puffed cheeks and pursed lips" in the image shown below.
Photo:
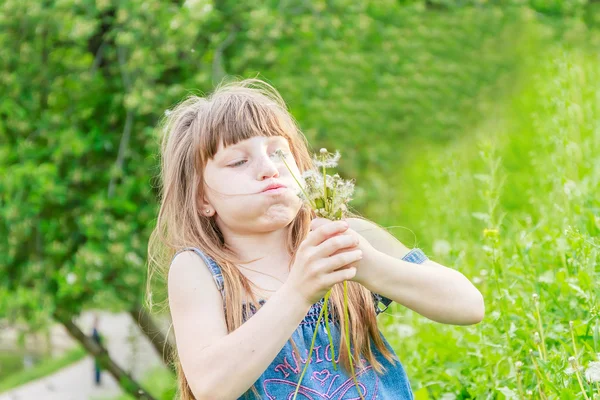
{"label": "girl's face with puffed cheeks and pursed lips", "polygon": [[[217,225],[237,233],[269,232],[290,224],[302,201],[298,184],[276,154],[281,150],[296,178],[300,171],[283,136],[256,136],[226,148],[221,143],[204,169],[205,209]],[[282,186],[267,190],[269,186]],[[207,215],[207,214],[205,214]]]}

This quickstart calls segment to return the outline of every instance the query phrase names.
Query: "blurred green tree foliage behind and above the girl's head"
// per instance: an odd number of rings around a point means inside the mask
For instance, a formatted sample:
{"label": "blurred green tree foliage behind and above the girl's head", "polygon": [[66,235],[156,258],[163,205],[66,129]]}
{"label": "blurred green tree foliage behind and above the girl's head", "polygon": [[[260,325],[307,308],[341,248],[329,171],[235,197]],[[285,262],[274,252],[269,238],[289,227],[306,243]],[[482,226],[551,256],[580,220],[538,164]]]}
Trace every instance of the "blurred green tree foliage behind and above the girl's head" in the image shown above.
{"label": "blurred green tree foliage behind and above the girl's head", "polygon": [[262,74],[310,141],[344,152],[342,173],[362,186],[354,205],[377,219],[393,210],[405,140],[459,137],[487,112],[481,96],[511,88],[532,10],[584,7],[4,0],[0,318],[33,329],[57,318],[77,336],[71,317],[102,307],[154,329],[140,306],[159,196],[154,127],[190,91]]}

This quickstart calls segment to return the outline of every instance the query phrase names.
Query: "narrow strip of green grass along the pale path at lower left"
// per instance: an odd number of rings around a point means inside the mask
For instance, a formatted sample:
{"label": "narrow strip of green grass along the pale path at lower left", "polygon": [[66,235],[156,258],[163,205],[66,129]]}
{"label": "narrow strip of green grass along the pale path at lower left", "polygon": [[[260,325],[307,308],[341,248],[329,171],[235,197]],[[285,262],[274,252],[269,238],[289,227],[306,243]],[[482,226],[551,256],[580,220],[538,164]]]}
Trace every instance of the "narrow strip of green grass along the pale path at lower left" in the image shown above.
{"label": "narrow strip of green grass along the pale path at lower left", "polygon": [[60,357],[42,360],[31,369],[21,370],[8,375],[0,381],[0,393],[53,374],[54,372],[83,359],[86,355],[87,353],[82,347],[76,347]]}

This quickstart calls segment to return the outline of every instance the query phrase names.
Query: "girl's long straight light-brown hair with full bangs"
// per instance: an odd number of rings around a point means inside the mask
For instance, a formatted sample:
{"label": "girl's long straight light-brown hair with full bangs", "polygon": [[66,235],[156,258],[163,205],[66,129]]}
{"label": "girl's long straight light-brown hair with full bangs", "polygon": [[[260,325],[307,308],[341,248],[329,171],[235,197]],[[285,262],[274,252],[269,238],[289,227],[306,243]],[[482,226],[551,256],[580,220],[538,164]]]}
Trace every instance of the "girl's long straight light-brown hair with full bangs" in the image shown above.
{"label": "girl's long straight light-brown hair with full bangs", "polygon": [[[174,254],[188,246],[201,249],[222,269],[225,282],[225,321],[232,332],[244,322],[242,302],[244,294],[254,303],[252,283],[239,271],[236,264],[243,261],[225,245],[223,236],[211,217],[202,215],[204,197],[204,167],[217,152],[219,143],[225,146],[255,136],[283,136],[301,172],[312,167],[309,146],[284,100],[273,86],[259,79],[246,79],[219,85],[206,96],[191,95],[166,113],[160,127],[161,141],[161,199],[157,224],[148,247],[147,299],[151,300],[151,282],[156,274],[166,282]],[[310,230],[314,217],[303,206],[288,228],[286,247],[293,259],[298,246]],[[291,266],[292,264],[290,264]],[[340,322],[343,332],[343,286],[333,287],[331,312]],[[354,360],[366,359],[377,373],[385,368],[372,351],[372,342],[392,364],[397,360],[386,348],[377,328],[371,292],[362,285],[348,282],[348,311],[350,338],[354,345]],[[369,338],[371,340],[369,340]],[[292,339],[291,344],[297,350]],[[340,364],[347,372],[350,361],[344,335],[340,335]],[[173,361],[178,375],[178,395],[181,400],[193,400],[179,357]],[[355,361],[360,367],[361,363]],[[258,397],[256,388],[252,391]],[[248,393],[248,392],[247,392]]]}

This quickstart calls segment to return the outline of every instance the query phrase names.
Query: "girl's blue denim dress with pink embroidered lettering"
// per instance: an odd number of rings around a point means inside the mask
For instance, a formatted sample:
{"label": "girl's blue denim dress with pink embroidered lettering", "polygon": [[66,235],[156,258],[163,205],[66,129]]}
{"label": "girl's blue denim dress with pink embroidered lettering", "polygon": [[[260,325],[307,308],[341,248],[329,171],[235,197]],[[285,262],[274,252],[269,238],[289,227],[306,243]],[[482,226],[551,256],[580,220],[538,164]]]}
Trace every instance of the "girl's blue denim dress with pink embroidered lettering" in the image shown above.
{"label": "girl's blue denim dress with pink embroidered lettering", "polygon": [[[224,281],[219,265],[201,250],[194,247],[187,247],[179,252],[186,250],[193,250],[204,259],[224,299]],[[428,258],[420,249],[415,248],[402,259],[408,262],[421,264]],[[376,293],[373,293],[373,298],[375,300],[375,311],[377,314],[385,311],[392,302],[392,300]],[[292,338],[300,354],[294,351],[289,341],[286,342],[285,346],[281,349],[277,357],[275,357],[271,365],[269,365],[265,372],[263,372],[260,378],[254,383],[254,387],[260,394],[258,399],[291,400],[293,398],[300,375],[308,361],[308,350],[310,349],[312,337],[316,329],[318,332],[315,339],[315,345],[296,399],[360,400],[358,390],[352,377],[345,374],[341,370],[339,364],[337,364],[337,370],[334,370],[333,368],[329,338],[327,336],[327,331],[325,330],[324,316],[321,319],[319,326],[316,325],[319,313],[323,307],[323,300],[324,299],[321,299],[311,306],[304,319],[300,322],[298,328],[292,334]],[[264,300],[261,300],[260,304],[264,304]],[[250,318],[257,311],[253,305],[250,305],[248,308],[249,309],[247,309],[246,304],[244,304],[244,312],[247,316],[246,319]],[[329,327],[332,331],[331,334],[335,346],[336,362],[338,362],[340,355],[340,331],[339,325],[332,319],[331,314],[329,315]],[[381,335],[385,346],[397,359],[394,350],[391,348],[383,334],[381,334],[381,331],[379,334]],[[376,359],[383,365],[386,372],[384,372],[383,375],[378,375],[366,360],[363,360],[365,367],[361,370],[355,369],[358,387],[360,388],[362,397],[365,400],[413,399],[410,383],[402,364],[399,361],[396,361],[396,364],[392,365],[385,357],[383,357],[381,352],[379,352],[374,345],[372,348]],[[347,350],[342,349],[342,351]],[[254,400],[257,399],[257,397],[249,390],[239,399]]]}

